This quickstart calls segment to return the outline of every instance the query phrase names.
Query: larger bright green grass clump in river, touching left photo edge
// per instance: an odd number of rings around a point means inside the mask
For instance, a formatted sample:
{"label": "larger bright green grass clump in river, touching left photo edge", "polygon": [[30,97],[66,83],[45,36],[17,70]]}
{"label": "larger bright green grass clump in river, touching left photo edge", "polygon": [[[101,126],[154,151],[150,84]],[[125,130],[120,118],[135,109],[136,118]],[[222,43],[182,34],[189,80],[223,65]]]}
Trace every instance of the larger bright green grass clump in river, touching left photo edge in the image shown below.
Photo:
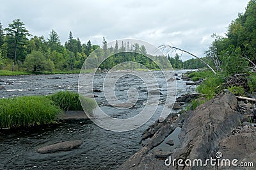
{"label": "larger bright green grass clump in river, touching left photo edge", "polygon": [[0,127],[29,127],[54,123],[62,111],[46,97],[0,99]]}

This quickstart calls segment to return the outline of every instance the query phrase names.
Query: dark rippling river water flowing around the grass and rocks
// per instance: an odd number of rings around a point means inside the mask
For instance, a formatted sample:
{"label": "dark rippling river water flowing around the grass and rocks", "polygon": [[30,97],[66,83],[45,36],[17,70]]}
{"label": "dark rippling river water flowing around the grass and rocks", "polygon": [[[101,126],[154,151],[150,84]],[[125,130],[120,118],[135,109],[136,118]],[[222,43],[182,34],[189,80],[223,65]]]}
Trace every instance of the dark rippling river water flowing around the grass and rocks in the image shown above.
{"label": "dark rippling river water flowing around the grass and rocks", "polygon": [[[177,77],[185,70],[177,70]],[[166,75],[172,72],[166,72]],[[114,118],[130,118],[147,104],[147,72],[110,73],[110,81],[115,81],[115,97],[120,101],[127,100],[127,91],[130,88],[137,89],[138,100],[131,109],[118,109],[108,104],[104,93],[94,93],[99,102],[100,109]],[[139,75],[139,76],[138,76]],[[92,74],[88,73],[88,80]],[[127,132],[112,132],[100,128],[90,120],[72,121],[61,125],[45,125],[42,127],[23,128],[19,130],[0,130],[0,169],[116,169],[127,158],[140,150],[141,135],[149,125],[159,118],[166,100],[166,79],[161,72],[154,72],[160,95],[156,114],[140,128]],[[103,78],[106,74],[95,75],[93,88],[103,91]],[[144,77],[144,81],[140,79]],[[24,95],[49,95],[60,90],[77,91],[79,74],[68,75],[20,75],[0,77],[0,82],[6,89],[1,91],[0,97],[14,97]],[[6,83],[7,82],[7,83]],[[13,82],[13,85],[8,84]],[[152,85],[152,84],[151,84]],[[177,81],[177,90],[172,84],[172,93],[175,97],[187,93],[188,86],[182,80]],[[154,87],[154,86],[151,86]],[[81,88],[86,89],[86,84]],[[90,91],[84,91],[90,93]],[[85,95],[86,95],[85,94]],[[113,98],[113,97],[110,97]],[[157,98],[156,98],[157,100]],[[154,101],[154,100],[152,100]],[[152,103],[154,105],[154,103]],[[157,101],[155,103],[157,105]],[[172,111],[170,109],[170,111]],[[62,141],[81,139],[83,144],[72,151],[40,154],[36,149],[49,144]]]}

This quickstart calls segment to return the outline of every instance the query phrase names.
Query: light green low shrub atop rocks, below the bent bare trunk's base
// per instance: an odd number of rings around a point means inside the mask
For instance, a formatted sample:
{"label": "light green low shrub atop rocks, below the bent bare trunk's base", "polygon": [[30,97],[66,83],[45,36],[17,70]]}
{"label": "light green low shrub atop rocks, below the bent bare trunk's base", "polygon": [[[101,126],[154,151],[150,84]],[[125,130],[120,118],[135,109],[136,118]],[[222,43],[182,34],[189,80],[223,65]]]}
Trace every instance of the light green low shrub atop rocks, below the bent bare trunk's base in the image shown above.
{"label": "light green low shrub atop rocks, below the bent bare trunk's base", "polygon": [[223,82],[224,78],[222,75],[212,75],[210,77],[207,77],[207,79],[205,79],[205,81],[200,84],[196,90],[198,91],[198,93],[205,94],[205,98],[207,100],[210,100],[214,97],[214,95],[216,95],[216,93],[219,92],[217,91],[217,87],[220,86]]}

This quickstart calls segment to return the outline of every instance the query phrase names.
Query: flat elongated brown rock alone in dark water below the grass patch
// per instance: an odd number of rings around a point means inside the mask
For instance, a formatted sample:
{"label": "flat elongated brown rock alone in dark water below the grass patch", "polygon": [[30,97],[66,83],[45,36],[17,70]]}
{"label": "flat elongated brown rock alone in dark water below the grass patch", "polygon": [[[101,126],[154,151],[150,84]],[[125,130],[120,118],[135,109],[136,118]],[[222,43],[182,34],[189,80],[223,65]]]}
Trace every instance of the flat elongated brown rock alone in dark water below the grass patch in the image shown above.
{"label": "flat elongated brown rock alone in dark water below the grass patch", "polygon": [[63,143],[51,144],[49,146],[39,148],[36,151],[38,153],[52,153],[52,152],[56,152],[56,151],[68,151],[68,150],[72,150],[74,148],[78,148],[79,146],[81,146],[82,143],[83,143],[83,141],[81,141],[81,140],[65,141]]}

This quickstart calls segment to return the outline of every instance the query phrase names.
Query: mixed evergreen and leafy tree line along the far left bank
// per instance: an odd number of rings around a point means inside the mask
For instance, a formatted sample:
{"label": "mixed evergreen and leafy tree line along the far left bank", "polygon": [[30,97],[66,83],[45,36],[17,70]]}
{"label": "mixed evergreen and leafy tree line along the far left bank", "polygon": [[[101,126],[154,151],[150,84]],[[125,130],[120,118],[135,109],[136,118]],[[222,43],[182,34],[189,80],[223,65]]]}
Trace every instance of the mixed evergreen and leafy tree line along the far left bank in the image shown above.
{"label": "mixed evergreen and leafy tree line along the far left bank", "polygon": [[13,20],[4,29],[0,22],[0,69],[29,72],[79,70],[91,53],[92,67],[96,66],[95,61],[110,56],[99,65],[101,70],[110,70],[125,61],[140,63],[149,69],[159,68],[159,64],[162,68],[171,67],[164,56],[148,57],[145,46],[138,43],[122,42],[118,45],[116,41],[115,47],[108,47],[103,37],[102,48],[99,48],[99,45],[92,45],[90,40],[81,44],[79,38],[74,38],[70,31],[67,42],[61,45],[54,29],[45,40],[44,36],[30,35],[20,19]]}

